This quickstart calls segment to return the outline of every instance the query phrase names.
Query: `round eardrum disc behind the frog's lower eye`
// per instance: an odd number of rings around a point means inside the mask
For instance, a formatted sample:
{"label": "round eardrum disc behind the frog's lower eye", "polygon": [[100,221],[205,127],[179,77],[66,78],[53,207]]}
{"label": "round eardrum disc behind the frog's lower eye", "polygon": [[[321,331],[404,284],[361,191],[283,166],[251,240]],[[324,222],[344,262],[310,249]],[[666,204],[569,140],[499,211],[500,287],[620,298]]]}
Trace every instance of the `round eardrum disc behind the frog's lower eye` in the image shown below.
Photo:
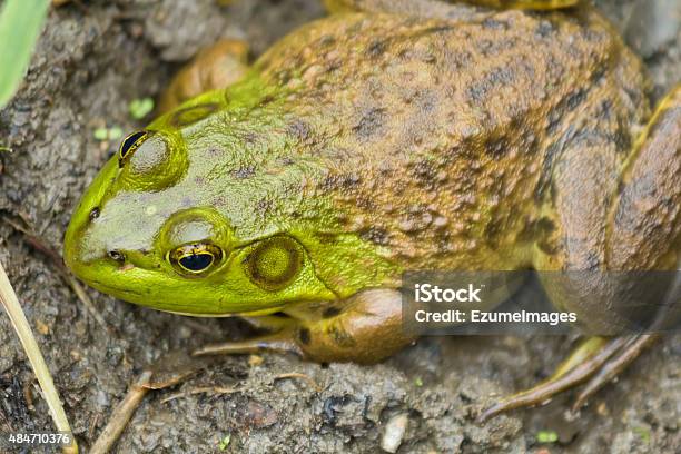
{"label": "round eardrum disc behind the frog's lower eye", "polygon": [[269,238],[246,258],[250,279],[267,290],[279,290],[288,285],[303,267],[300,245],[287,237]]}

